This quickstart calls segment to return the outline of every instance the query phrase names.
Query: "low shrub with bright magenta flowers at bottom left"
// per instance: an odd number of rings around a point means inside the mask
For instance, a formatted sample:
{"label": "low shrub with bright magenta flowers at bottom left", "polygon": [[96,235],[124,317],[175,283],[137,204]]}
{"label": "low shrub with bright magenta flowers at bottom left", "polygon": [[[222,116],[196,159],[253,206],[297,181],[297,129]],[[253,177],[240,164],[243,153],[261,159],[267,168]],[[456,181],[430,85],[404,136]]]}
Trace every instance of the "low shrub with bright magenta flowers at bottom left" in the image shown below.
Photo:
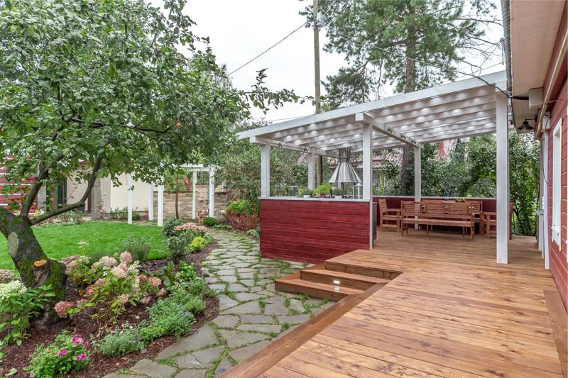
{"label": "low shrub with bright magenta flowers at bottom left", "polygon": [[45,378],[78,372],[89,363],[88,348],[88,341],[84,342],[81,335],[62,331],[52,344],[35,349],[27,370],[35,377]]}

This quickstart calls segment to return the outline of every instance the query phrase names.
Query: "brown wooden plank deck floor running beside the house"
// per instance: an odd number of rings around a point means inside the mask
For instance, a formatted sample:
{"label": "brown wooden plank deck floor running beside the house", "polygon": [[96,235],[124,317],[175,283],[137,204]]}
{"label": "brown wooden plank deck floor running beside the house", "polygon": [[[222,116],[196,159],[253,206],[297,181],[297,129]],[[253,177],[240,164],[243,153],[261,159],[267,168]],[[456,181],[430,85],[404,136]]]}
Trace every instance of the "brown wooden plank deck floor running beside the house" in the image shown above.
{"label": "brown wooden plank deck floor running beside the house", "polygon": [[[328,260],[387,284],[348,295],[223,377],[566,377],[566,313],[534,238],[378,235]],[[560,350],[560,352],[559,352]]]}

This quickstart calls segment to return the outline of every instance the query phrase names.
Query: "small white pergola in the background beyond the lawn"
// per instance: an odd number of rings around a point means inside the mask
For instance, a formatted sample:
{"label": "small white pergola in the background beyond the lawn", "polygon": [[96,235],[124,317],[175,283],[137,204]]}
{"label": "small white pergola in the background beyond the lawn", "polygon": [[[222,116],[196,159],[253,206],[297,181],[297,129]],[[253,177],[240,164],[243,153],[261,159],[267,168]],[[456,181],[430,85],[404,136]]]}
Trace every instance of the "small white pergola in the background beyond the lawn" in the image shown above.
{"label": "small white pergola in the background beyond the lawn", "polygon": [[[197,196],[196,194],[196,183],[197,183],[197,172],[209,172],[209,215],[214,216],[215,213],[215,169],[214,166],[204,166],[204,165],[181,165],[181,168],[185,169],[187,172],[192,172],[192,218],[197,218]],[[132,223],[132,207],[133,207],[133,184],[130,175],[126,176],[126,182],[128,185],[128,223]],[[150,183],[149,189],[149,199],[148,199],[148,221],[154,220],[154,183]],[[158,185],[158,227],[163,226],[164,220],[164,186],[163,184]]]}

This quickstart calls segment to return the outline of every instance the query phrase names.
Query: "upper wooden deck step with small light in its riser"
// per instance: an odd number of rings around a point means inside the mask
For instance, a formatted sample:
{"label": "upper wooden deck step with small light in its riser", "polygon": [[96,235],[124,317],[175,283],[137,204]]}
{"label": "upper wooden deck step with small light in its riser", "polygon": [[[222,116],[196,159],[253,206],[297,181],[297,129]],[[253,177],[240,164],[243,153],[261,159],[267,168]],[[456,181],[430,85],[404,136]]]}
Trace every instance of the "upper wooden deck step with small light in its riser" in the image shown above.
{"label": "upper wooden deck step with small light in its riser", "polygon": [[364,276],[346,272],[337,272],[327,269],[303,269],[300,278],[306,281],[329,284],[351,289],[366,290],[375,284],[388,284],[389,279]]}

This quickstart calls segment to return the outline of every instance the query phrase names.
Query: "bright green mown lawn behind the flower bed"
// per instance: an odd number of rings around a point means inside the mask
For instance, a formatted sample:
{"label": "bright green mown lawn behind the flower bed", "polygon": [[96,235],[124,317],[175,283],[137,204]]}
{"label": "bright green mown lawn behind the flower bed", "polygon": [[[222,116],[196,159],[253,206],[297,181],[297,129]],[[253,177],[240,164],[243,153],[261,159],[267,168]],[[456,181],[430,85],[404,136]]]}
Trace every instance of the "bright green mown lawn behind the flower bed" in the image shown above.
{"label": "bright green mown lawn behind the flower bed", "polygon": [[[90,251],[113,251],[122,240],[133,236],[143,236],[150,240],[151,258],[162,257],[165,250],[162,228],[157,226],[128,224],[114,221],[89,221],[72,226],[34,227],[33,233],[38,238],[48,257],[61,260],[63,257],[81,254],[79,242],[89,245]],[[14,269],[8,255],[6,239],[0,239],[0,269]]]}

